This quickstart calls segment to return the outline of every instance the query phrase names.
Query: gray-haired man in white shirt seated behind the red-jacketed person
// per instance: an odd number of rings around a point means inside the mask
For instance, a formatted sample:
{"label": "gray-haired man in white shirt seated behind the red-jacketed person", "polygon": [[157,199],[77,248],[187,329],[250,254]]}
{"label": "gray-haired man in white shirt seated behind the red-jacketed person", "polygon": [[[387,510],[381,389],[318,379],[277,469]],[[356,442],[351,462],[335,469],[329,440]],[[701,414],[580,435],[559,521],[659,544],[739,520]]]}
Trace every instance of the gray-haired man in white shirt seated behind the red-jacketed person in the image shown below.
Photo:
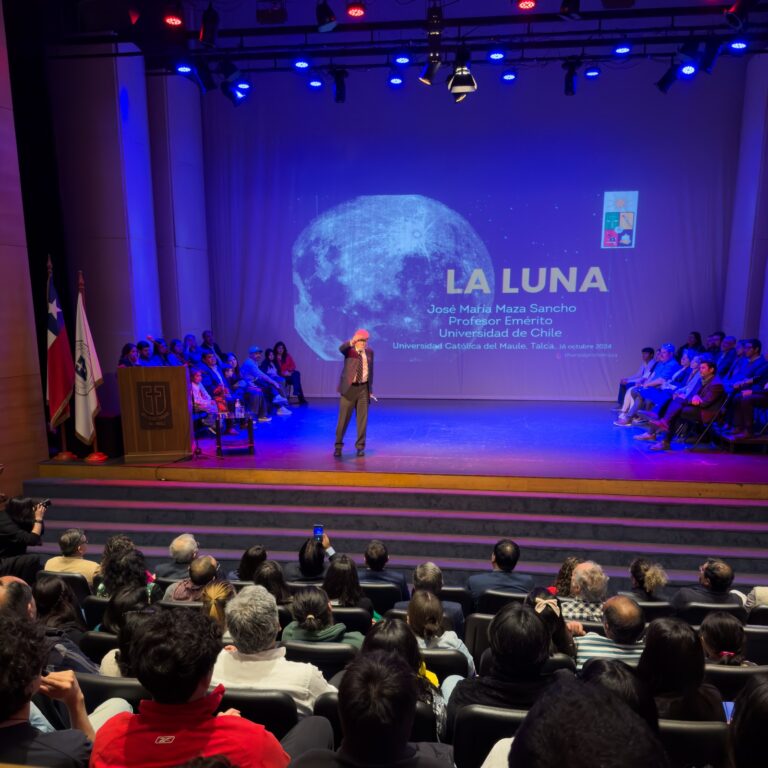
{"label": "gray-haired man in white shirt seated behind the red-jacketed person", "polygon": [[221,651],[212,682],[231,689],[283,691],[299,717],[312,714],[315,699],[336,689],[314,664],[288,661],[276,647],[280,622],[275,598],[264,587],[245,587],[227,603],[227,629],[234,645]]}

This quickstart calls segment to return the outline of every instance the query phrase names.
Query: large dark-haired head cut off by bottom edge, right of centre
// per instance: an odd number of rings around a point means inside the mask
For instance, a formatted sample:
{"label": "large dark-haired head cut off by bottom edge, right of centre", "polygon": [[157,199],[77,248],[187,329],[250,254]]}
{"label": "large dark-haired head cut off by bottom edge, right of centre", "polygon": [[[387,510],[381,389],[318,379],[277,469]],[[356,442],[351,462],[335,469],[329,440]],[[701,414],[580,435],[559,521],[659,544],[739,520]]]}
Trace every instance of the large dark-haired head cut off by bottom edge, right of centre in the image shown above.
{"label": "large dark-haired head cut off by bottom edge, right of centre", "polygon": [[512,742],[509,768],[669,768],[643,718],[603,686],[564,680],[533,705]]}

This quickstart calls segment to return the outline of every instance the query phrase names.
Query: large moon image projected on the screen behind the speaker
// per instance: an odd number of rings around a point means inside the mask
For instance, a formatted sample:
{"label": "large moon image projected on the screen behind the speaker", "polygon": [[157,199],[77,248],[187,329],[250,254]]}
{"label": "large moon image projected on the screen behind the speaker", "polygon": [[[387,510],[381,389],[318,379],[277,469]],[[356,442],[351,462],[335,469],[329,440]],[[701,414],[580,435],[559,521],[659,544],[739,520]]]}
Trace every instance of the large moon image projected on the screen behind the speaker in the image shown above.
{"label": "large moon image projected on the screen behind the speaker", "polygon": [[[430,314],[433,304],[479,308],[493,301],[493,264],[483,241],[456,211],[421,195],[361,196],[337,205],[299,235],[292,260],[296,330],[324,360],[336,360],[356,328],[368,329],[382,352],[395,342],[440,343],[448,318]],[[449,269],[462,290],[482,269],[491,292],[448,294]]]}

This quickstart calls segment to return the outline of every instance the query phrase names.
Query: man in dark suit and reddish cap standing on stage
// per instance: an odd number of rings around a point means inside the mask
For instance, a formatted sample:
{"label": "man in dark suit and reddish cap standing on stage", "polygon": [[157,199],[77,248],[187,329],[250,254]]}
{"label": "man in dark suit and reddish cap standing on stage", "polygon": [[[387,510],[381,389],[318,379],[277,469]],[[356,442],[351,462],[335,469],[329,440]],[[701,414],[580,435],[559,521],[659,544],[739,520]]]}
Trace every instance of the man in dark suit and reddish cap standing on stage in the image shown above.
{"label": "man in dark suit and reddish cap standing on stage", "polygon": [[344,445],[344,433],[352,418],[352,411],[357,415],[358,456],[365,456],[365,433],[368,428],[368,404],[373,395],[373,350],[368,349],[370,334],[364,328],[355,331],[355,335],[345,341],[339,352],[344,355],[344,368],[339,381],[339,420],[336,423],[336,446],[333,455],[341,456]]}

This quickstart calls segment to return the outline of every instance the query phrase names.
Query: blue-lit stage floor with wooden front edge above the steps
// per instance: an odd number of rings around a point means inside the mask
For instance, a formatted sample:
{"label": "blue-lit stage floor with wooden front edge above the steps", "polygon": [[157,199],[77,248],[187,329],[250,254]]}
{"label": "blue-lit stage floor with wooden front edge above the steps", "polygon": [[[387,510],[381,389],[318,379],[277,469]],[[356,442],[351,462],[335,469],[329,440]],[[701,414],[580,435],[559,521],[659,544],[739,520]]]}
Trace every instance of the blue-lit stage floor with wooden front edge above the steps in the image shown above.
{"label": "blue-lit stage floor with wooden front edge above the steps", "polygon": [[[528,493],[768,499],[768,456],[674,443],[654,453],[613,426],[612,403],[381,400],[372,404],[364,458],[354,424],[333,457],[336,399],[313,398],[259,424],[256,453],[246,433],[212,438],[202,455],[173,464],[43,462],[42,477],[282,483]],[[743,449],[742,449],[743,450]],[[753,449],[754,450],[754,449]]]}

